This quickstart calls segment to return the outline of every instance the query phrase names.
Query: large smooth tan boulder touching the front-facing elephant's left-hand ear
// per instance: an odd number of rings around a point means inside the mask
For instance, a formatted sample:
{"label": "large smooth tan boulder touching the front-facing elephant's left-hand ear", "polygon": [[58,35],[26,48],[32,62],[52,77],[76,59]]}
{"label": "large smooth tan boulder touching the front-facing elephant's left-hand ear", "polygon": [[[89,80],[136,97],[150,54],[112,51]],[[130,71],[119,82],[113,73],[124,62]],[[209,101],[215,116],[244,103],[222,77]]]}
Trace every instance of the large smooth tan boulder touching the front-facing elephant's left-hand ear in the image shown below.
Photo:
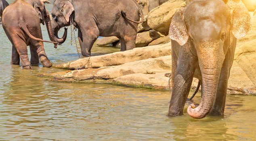
{"label": "large smooth tan boulder touching the front-facing elephant's left-hand ear", "polygon": [[174,13],[181,6],[185,6],[185,4],[185,0],[169,0],[161,6],[151,10],[147,16],[149,27],[164,35],[168,35]]}

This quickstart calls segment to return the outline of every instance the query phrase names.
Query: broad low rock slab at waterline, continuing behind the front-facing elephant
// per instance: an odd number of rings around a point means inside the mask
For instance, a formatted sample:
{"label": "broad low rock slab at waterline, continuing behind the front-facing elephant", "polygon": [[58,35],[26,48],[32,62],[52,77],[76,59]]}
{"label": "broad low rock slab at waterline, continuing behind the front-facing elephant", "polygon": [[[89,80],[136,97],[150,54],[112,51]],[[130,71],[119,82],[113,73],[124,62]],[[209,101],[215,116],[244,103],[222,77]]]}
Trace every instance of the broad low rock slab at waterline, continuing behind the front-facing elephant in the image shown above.
{"label": "broad low rock slab at waterline, continuing behind the front-facing elephant", "polygon": [[[118,66],[88,68],[84,70],[65,71],[43,74],[41,77],[53,77],[54,81],[110,83],[129,87],[146,87],[157,90],[168,90],[168,77],[171,72],[171,56],[149,58],[128,62]],[[97,81],[100,80],[100,81]],[[194,79],[192,88],[197,87]],[[238,62],[234,62],[228,84],[228,94],[256,95],[256,85],[248,77]]]}

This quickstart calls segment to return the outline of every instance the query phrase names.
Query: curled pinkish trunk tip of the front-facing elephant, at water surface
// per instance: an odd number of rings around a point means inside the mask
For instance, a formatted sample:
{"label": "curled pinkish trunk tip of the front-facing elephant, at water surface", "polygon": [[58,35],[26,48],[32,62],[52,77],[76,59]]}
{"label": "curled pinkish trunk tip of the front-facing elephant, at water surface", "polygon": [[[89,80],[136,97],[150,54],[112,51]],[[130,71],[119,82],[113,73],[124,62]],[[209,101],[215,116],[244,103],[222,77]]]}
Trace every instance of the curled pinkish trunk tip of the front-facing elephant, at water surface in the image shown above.
{"label": "curled pinkish trunk tip of the front-facing elephant, at water surface", "polygon": [[197,108],[195,107],[195,104],[190,104],[189,107],[187,108],[187,113],[189,116],[195,119],[201,119],[206,117],[207,113],[206,112],[201,112],[199,109],[199,106]]}

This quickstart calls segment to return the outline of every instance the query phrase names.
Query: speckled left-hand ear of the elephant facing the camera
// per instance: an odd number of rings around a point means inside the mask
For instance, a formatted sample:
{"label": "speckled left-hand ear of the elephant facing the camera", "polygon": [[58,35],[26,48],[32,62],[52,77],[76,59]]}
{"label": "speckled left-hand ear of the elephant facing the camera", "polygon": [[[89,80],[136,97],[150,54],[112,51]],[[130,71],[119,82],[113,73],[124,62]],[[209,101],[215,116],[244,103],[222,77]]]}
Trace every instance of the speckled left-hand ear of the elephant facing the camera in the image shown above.
{"label": "speckled left-hand ear of the elephant facing the camera", "polygon": [[172,22],[169,30],[170,39],[177,41],[180,46],[186,44],[189,39],[189,34],[183,20],[183,10],[184,8],[180,8],[176,11],[174,16],[172,17]]}

